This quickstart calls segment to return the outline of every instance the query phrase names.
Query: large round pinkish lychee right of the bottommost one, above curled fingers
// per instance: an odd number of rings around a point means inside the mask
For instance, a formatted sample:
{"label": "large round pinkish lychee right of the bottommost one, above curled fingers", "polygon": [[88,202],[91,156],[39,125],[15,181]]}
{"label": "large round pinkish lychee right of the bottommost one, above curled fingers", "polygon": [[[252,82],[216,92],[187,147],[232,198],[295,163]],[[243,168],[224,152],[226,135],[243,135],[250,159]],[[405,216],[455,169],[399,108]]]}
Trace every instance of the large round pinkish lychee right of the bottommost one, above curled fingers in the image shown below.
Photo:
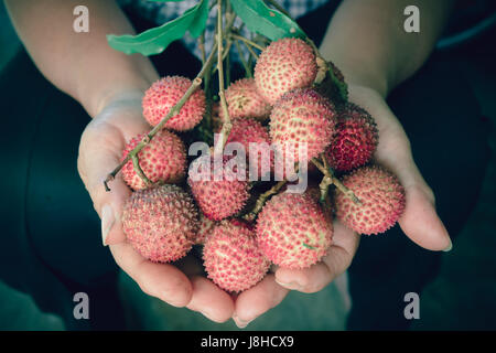
{"label": "large round pinkish lychee right of the bottommost one, above curled fingers", "polygon": [[260,249],[272,263],[301,269],[327,254],[333,225],[313,194],[281,193],[263,206],[256,233]]}

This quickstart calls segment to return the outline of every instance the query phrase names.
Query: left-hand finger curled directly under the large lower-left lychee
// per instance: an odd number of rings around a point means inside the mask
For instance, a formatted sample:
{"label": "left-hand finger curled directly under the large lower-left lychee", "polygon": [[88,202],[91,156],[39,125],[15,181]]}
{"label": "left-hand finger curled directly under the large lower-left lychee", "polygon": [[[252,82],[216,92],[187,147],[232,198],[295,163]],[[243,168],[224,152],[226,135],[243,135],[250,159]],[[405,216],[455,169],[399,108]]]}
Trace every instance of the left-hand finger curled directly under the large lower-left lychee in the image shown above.
{"label": "left-hand finger curled directly under the large lower-left lychee", "polygon": [[174,307],[185,307],[191,301],[192,285],[175,266],[151,263],[128,243],[111,245],[110,252],[117,265],[147,295],[157,297]]}

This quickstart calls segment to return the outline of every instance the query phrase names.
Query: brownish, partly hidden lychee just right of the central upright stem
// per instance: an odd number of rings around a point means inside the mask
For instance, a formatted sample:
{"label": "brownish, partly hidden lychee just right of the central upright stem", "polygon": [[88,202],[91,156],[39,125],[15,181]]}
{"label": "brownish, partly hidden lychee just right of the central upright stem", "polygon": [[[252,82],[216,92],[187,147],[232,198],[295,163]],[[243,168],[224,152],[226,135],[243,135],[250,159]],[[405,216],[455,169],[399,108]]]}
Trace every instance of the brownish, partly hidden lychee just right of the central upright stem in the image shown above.
{"label": "brownish, partly hidden lychee just right of the central upright stem", "polygon": [[[257,92],[257,85],[254,78],[241,78],[233,84],[226,90],[226,101],[229,117],[254,118],[266,120],[269,118],[272,107]],[[220,109],[220,117],[223,117]]]}

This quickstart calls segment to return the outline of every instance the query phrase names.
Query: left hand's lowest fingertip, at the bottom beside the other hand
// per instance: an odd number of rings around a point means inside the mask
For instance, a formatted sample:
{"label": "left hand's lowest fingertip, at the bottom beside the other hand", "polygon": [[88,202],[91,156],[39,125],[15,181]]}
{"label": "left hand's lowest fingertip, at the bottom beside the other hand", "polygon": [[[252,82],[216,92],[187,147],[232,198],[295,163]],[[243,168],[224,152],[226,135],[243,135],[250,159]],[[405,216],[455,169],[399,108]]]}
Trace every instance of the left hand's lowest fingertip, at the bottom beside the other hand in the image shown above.
{"label": "left hand's lowest fingertip, at the bottom beside the other hand", "polygon": [[225,322],[233,317],[235,304],[228,293],[202,276],[191,278],[193,297],[187,308],[201,312],[215,322]]}

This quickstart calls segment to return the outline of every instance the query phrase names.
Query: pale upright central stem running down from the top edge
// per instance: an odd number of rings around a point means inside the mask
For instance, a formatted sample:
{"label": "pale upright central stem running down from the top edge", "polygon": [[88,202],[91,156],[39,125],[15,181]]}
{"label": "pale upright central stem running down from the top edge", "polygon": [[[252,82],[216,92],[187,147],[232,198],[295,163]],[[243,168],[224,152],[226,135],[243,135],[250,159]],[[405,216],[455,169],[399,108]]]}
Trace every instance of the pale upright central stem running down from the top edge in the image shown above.
{"label": "pale upright central stem running down from the top edge", "polygon": [[[229,29],[228,29],[229,31]],[[217,67],[218,67],[218,96],[220,98],[220,108],[224,114],[223,128],[219,138],[214,148],[215,154],[222,154],[227,142],[233,124],[230,122],[229,111],[227,109],[226,94],[224,90],[224,64],[223,64],[223,0],[217,0]]]}

